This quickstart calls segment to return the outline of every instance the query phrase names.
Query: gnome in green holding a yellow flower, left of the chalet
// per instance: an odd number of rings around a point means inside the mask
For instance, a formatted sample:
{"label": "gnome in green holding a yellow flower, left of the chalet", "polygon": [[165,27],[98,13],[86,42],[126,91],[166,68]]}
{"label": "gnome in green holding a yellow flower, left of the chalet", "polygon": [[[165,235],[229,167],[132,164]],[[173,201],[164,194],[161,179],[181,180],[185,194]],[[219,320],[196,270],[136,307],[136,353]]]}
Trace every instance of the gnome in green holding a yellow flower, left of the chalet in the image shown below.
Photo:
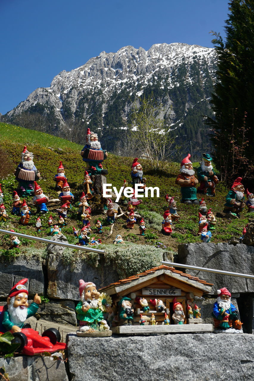
{"label": "gnome in green holding a yellow flower, left of the chalet", "polygon": [[109,326],[104,320],[103,312],[99,308],[98,298],[99,291],[93,282],[84,282],[79,280],[80,301],[76,307],[77,319],[79,320],[79,331],[86,332],[91,328],[99,330],[101,323],[104,330],[108,330]]}

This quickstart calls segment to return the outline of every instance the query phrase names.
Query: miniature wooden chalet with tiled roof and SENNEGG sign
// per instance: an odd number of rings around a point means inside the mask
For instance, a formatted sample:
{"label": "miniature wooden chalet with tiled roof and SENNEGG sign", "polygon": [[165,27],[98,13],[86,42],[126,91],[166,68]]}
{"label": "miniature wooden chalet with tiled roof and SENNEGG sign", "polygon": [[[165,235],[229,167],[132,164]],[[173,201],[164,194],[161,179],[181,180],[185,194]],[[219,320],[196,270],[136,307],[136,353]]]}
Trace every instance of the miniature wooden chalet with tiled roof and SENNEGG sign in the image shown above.
{"label": "miniature wooden chalet with tiled roof and SENNEGG sign", "polygon": [[[113,333],[133,334],[133,333],[186,333],[186,332],[212,332],[212,324],[203,324],[202,319],[188,319],[187,304],[195,304],[194,296],[203,296],[212,290],[212,284],[176,270],[174,267],[158,266],[119,282],[111,283],[100,292],[105,292],[111,296],[113,306],[119,309],[119,301],[128,297],[131,299],[134,308],[133,325],[119,325],[116,317],[116,327],[112,325]],[[137,303],[138,298],[145,298],[148,301],[149,311],[143,311],[142,306]],[[173,301],[176,298],[183,306],[185,320],[183,324],[174,324],[172,319]],[[158,312],[150,300],[160,299],[166,309]],[[165,312],[168,315],[167,325],[165,323]],[[116,312],[117,314],[117,312]],[[140,314],[145,322],[140,325]],[[156,325],[151,325],[151,316],[154,314]],[[201,311],[202,315],[202,311]],[[118,326],[117,326],[118,325]]]}

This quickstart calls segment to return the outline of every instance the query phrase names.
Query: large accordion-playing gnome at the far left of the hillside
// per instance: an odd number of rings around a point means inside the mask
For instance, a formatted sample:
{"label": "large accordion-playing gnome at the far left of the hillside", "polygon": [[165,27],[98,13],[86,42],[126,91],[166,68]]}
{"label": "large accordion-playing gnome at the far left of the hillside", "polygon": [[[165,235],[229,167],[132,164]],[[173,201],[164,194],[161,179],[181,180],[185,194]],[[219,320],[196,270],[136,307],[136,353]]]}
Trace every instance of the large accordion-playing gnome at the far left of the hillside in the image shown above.
{"label": "large accordion-playing gnome at the far left of the hillside", "polygon": [[40,172],[37,171],[34,161],[34,155],[24,146],[21,154],[21,162],[14,171],[16,180],[18,181],[18,194],[23,196],[34,195],[34,181],[39,180]]}

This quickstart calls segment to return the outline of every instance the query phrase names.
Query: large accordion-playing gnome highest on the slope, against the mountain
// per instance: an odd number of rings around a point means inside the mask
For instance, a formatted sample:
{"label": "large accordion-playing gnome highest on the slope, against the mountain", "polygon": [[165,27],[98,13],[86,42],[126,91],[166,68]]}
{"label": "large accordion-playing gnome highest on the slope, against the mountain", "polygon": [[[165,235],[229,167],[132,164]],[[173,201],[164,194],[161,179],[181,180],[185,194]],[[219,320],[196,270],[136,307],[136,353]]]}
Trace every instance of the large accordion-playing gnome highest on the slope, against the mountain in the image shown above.
{"label": "large accordion-playing gnome highest on the slope, against the mountain", "polygon": [[108,170],[104,170],[102,162],[107,158],[106,150],[101,149],[101,143],[98,141],[98,135],[87,128],[87,144],[80,152],[82,160],[87,164],[86,171],[92,174],[108,174]]}

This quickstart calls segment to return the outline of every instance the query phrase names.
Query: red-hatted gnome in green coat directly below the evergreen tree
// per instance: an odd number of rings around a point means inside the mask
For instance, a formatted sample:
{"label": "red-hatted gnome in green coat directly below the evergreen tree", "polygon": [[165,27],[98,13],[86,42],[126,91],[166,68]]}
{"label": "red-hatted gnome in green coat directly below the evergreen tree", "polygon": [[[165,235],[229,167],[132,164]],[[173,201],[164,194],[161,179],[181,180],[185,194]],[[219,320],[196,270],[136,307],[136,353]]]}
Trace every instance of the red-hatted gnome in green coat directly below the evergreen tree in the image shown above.
{"label": "red-hatted gnome in green coat directly below the evergreen tree", "polygon": [[231,190],[226,196],[223,213],[227,218],[239,218],[241,211],[245,207],[244,203],[244,187],[241,183],[242,178],[238,177],[231,186]]}

